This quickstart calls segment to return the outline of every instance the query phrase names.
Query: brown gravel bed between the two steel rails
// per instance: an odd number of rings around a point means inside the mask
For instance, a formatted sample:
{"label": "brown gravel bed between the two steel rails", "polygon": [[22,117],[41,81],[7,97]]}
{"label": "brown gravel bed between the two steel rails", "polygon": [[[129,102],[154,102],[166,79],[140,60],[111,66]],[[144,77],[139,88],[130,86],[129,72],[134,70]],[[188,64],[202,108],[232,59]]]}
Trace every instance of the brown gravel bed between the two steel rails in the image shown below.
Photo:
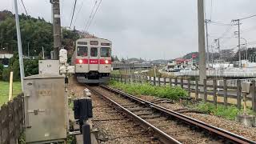
{"label": "brown gravel bed between the two steel rails", "polygon": [[[218,140],[206,137],[204,134],[198,132],[197,130],[191,130],[190,126],[182,125],[177,121],[169,120],[164,115],[154,113],[154,110],[143,110],[143,106],[135,104],[134,102],[130,102],[129,99],[123,98],[118,94],[111,93],[100,87],[94,87],[94,90],[97,90],[97,92],[104,94],[108,98],[114,100],[114,102],[118,102],[118,104],[120,104],[121,106],[127,106],[127,104],[129,104],[133,107],[131,108],[132,112],[134,109],[139,110],[134,111],[133,113],[137,115],[141,114],[139,117],[143,118],[147,122],[150,122],[152,125],[158,127],[158,129],[163,130],[166,134],[169,134],[171,137],[177,139],[179,142],[185,144],[222,143]],[[147,100],[151,100],[152,102],[154,102],[156,99],[147,98]]]}

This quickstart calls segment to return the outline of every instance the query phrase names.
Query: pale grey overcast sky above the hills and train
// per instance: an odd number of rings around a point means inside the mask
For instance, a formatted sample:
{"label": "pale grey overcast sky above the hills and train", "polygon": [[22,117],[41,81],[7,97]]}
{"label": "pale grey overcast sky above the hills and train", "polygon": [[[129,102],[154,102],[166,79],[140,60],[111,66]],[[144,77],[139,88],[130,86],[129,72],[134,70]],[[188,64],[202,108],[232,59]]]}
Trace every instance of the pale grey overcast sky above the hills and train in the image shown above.
{"label": "pale grey overcast sky above the hills and train", "polygon": [[[74,0],[60,0],[62,26],[70,26]],[[86,21],[96,0],[78,0],[74,26],[85,30]],[[100,0],[98,0],[99,2]],[[20,0],[19,11],[24,13]],[[51,21],[49,0],[23,0],[28,14]],[[205,0],[209,25],[209,43],[221,38],[221,49],[235,48],[237,26],[226,26],[232,19],[256,14],[255,0]],[[14,11],[13,0],[0,0],[0,10]],[[81,10],[80,10],[81,9]],[[80,12],[78,13],[78,11]],[[227,33],[224,32],[227,30]],[[256,45],[256,17],[242,20],[242,38]],[[113,52],[123,58],[178,58],[198,50],[196,0],[102,0],[89,32],[113,42]],[[244,41],[241,41],[244,43]]]}

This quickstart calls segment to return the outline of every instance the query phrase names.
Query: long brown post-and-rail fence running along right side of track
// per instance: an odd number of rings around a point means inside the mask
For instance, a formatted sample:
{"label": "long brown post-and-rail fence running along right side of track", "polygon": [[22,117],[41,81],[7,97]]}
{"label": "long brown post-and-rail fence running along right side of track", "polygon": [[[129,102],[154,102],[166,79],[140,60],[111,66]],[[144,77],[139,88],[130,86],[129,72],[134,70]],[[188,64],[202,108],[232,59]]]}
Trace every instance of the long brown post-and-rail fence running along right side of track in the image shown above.
{"label": "long brown post-and-rail fence running along right side of track", "polygon": [[[238,109],[242,108],[242,80],[237,80],[236,86],[228,86],[227,80],[223,80],[222,85],[218,80],[204,80],[202,84],[198,80],[191,81],[189,78],[155,78],[145,75],[121,75],[114,74],[111,79],[119,82],[150,82],[154,86],[180,86],[187,90],[190,97],[202,99],[205,102],[212,102],[215,106],[223,104],[224,106],[235,105]],[[255,80],[251,81],[250,94],[246,96],[246,102],[250,102],[252,110],[256,111],[256,84]],[[200,98],[199,98],[200,97]],[[212,97],[210,99],[210,97]],[[219,101],[217,98],[222,98]],[[229,102],[228,98],[236,102]]]}

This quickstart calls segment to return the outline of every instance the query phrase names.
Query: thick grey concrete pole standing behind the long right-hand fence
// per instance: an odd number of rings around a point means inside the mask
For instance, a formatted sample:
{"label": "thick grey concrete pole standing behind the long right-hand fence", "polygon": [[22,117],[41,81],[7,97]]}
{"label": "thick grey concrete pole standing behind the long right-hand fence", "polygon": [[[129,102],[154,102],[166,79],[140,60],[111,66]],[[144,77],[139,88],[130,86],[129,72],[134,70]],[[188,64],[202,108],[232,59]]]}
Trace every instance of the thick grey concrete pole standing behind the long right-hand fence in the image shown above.
{"label": "thick grey concrete pole standing behind the long right-hand fence", "polygon": [[206,79],[206,41],[204,0],[198,0],[198,52],[199,52],[199,79],[200,83]]}

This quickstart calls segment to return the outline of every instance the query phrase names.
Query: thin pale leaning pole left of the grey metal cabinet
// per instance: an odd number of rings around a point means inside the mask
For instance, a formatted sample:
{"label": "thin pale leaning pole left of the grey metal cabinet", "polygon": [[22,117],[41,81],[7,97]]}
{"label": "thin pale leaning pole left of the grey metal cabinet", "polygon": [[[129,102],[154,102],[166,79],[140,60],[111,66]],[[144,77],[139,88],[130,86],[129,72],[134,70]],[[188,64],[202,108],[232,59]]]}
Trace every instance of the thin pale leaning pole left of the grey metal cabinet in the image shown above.
{"label": "thin pale leaning pole left of the grey metal cabinet", "polygon": [[16,21],[16,30],[17,30],[17,39],[18,39],[19,71],[21,75],[22,91],[24,91],[24,86],[23,86],[24,65],[23,65],[23,54],[22,54],[22,38],[21,38],[21,30],[19,27],[17,0],[14,0],[14,9],[15,9],[15,21]]}

